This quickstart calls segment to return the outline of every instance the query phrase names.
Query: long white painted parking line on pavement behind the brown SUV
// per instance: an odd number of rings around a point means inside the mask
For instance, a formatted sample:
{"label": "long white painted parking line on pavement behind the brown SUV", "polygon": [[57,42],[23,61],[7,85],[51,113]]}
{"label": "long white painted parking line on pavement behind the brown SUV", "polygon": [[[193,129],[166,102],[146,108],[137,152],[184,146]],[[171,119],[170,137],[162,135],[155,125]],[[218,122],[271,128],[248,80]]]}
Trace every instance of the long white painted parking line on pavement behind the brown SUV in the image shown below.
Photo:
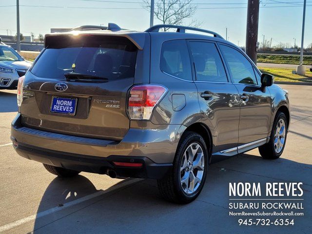
{"label": "long white painted parking line on pavement behind the brown SUV", "polygon": [[37,218],[40,218],[40,217],[43,217],[43,216],[46,216],[46,215],[50,215],[52,213],[55,213],[55,212],[58,212],[58,211],[61,211],[61,210],[64,210],[67,207],[70,207],[70,206],[73,206],[73,205],[77,205],[77,204],[79,204],[81,202],[90,200],[90,199],[95,198],[97,196],[106,194],[108,192],[114,191],[114,190],[119,189],[119,188],[122,188],[124,186],[130,185],[130,184],[134,184],[134,183],[136,183],[136,182],[138,182],[140,180],[142,180],[142,179],[131,179],[131,180],[123,182],[121,184],[117,184],[114,187],[108,188],[107,190],[101,190],[101,191],[98,191],[98,192],[96,192],[94,194],[86,195],[86,196],[78,198],[77,200],[67,202],[63,206],[54,207],[54,208],[51,208],[49,210],[39,212],[36,215],[30,215],[28,217],[25,217],[25,218],[22,218],[20,220],[14,221],[12,223],[3,225],[3,226],[0,227],[0,232],[9,230],[9,229],[17,227],[17,226],[20,226],[21,224],[29,222],[31,220],[34,220],[34,219],[37,219]]}

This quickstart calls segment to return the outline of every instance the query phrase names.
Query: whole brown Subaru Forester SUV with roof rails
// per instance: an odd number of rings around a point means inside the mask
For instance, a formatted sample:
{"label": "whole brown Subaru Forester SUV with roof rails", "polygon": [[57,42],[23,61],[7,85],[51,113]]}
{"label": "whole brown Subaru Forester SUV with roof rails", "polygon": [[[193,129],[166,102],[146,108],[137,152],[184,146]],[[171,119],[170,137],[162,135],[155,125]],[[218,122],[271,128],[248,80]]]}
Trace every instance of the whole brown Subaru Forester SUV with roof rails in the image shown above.
{"label": "whole brown Subaru Forester SUV with roof rails", "polygon": [[281,156],[290,124],[287,91],[240,48],[173,25],[46,35],[19,80],[18,106],[11,139],[20,156],[57,176],[157,179],[178,203],[199,195],[215,156],[256,147]]}

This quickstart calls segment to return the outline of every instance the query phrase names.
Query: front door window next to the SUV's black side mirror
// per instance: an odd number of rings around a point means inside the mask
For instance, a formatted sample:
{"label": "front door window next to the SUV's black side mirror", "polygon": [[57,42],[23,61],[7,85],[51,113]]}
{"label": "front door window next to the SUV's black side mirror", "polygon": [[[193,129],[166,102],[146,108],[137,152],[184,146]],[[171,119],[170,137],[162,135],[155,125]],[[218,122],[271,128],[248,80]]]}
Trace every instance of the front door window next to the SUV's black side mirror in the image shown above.
{"label": "front door window next to the SUV's black side mirror", "polygon": [[257,84],[253,65],[242,53],[230,46],[222,44],[220,44],[220,49],[228,64],[234,83]]}

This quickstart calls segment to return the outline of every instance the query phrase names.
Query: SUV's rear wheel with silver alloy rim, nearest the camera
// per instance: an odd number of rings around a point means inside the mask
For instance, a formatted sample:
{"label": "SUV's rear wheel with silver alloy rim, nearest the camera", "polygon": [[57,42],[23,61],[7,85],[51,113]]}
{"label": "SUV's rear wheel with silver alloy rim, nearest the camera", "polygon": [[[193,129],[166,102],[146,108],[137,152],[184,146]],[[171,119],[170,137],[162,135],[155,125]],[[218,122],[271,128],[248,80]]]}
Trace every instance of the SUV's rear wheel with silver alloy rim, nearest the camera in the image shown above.
{"label": "SUV's rear wheel with silver alloy rim, nearest the camera", "polygon": [[160,194],[175,203],[195,200],[205,184],[207,169],[208,150],[203,137],[195,132],[186,132],[178,144],[172,171],[157,180]]}

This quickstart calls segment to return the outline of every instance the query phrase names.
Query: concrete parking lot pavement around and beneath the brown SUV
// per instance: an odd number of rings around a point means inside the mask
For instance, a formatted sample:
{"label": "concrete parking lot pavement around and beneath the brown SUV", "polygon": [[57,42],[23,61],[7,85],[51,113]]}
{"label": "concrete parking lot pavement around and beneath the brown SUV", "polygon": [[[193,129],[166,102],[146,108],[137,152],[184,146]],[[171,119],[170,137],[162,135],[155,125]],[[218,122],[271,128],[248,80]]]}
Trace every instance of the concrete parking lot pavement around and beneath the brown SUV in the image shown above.
{"label": "concrete parking lot pavement around and beneath the brown SUV", "polygon": [[[283,155],[264,160],[254,149],[215,159],[203,191],[187,205],[162,200],[154,180],[61,179],[18,156],[10,144],[16,91],[0,91],[0,233],[312,233],[312,86],[281,86],[292,105]],[[239,217],[229,216],[229,182],[303,182],[304,216],[287,227],[239,226]]]}

